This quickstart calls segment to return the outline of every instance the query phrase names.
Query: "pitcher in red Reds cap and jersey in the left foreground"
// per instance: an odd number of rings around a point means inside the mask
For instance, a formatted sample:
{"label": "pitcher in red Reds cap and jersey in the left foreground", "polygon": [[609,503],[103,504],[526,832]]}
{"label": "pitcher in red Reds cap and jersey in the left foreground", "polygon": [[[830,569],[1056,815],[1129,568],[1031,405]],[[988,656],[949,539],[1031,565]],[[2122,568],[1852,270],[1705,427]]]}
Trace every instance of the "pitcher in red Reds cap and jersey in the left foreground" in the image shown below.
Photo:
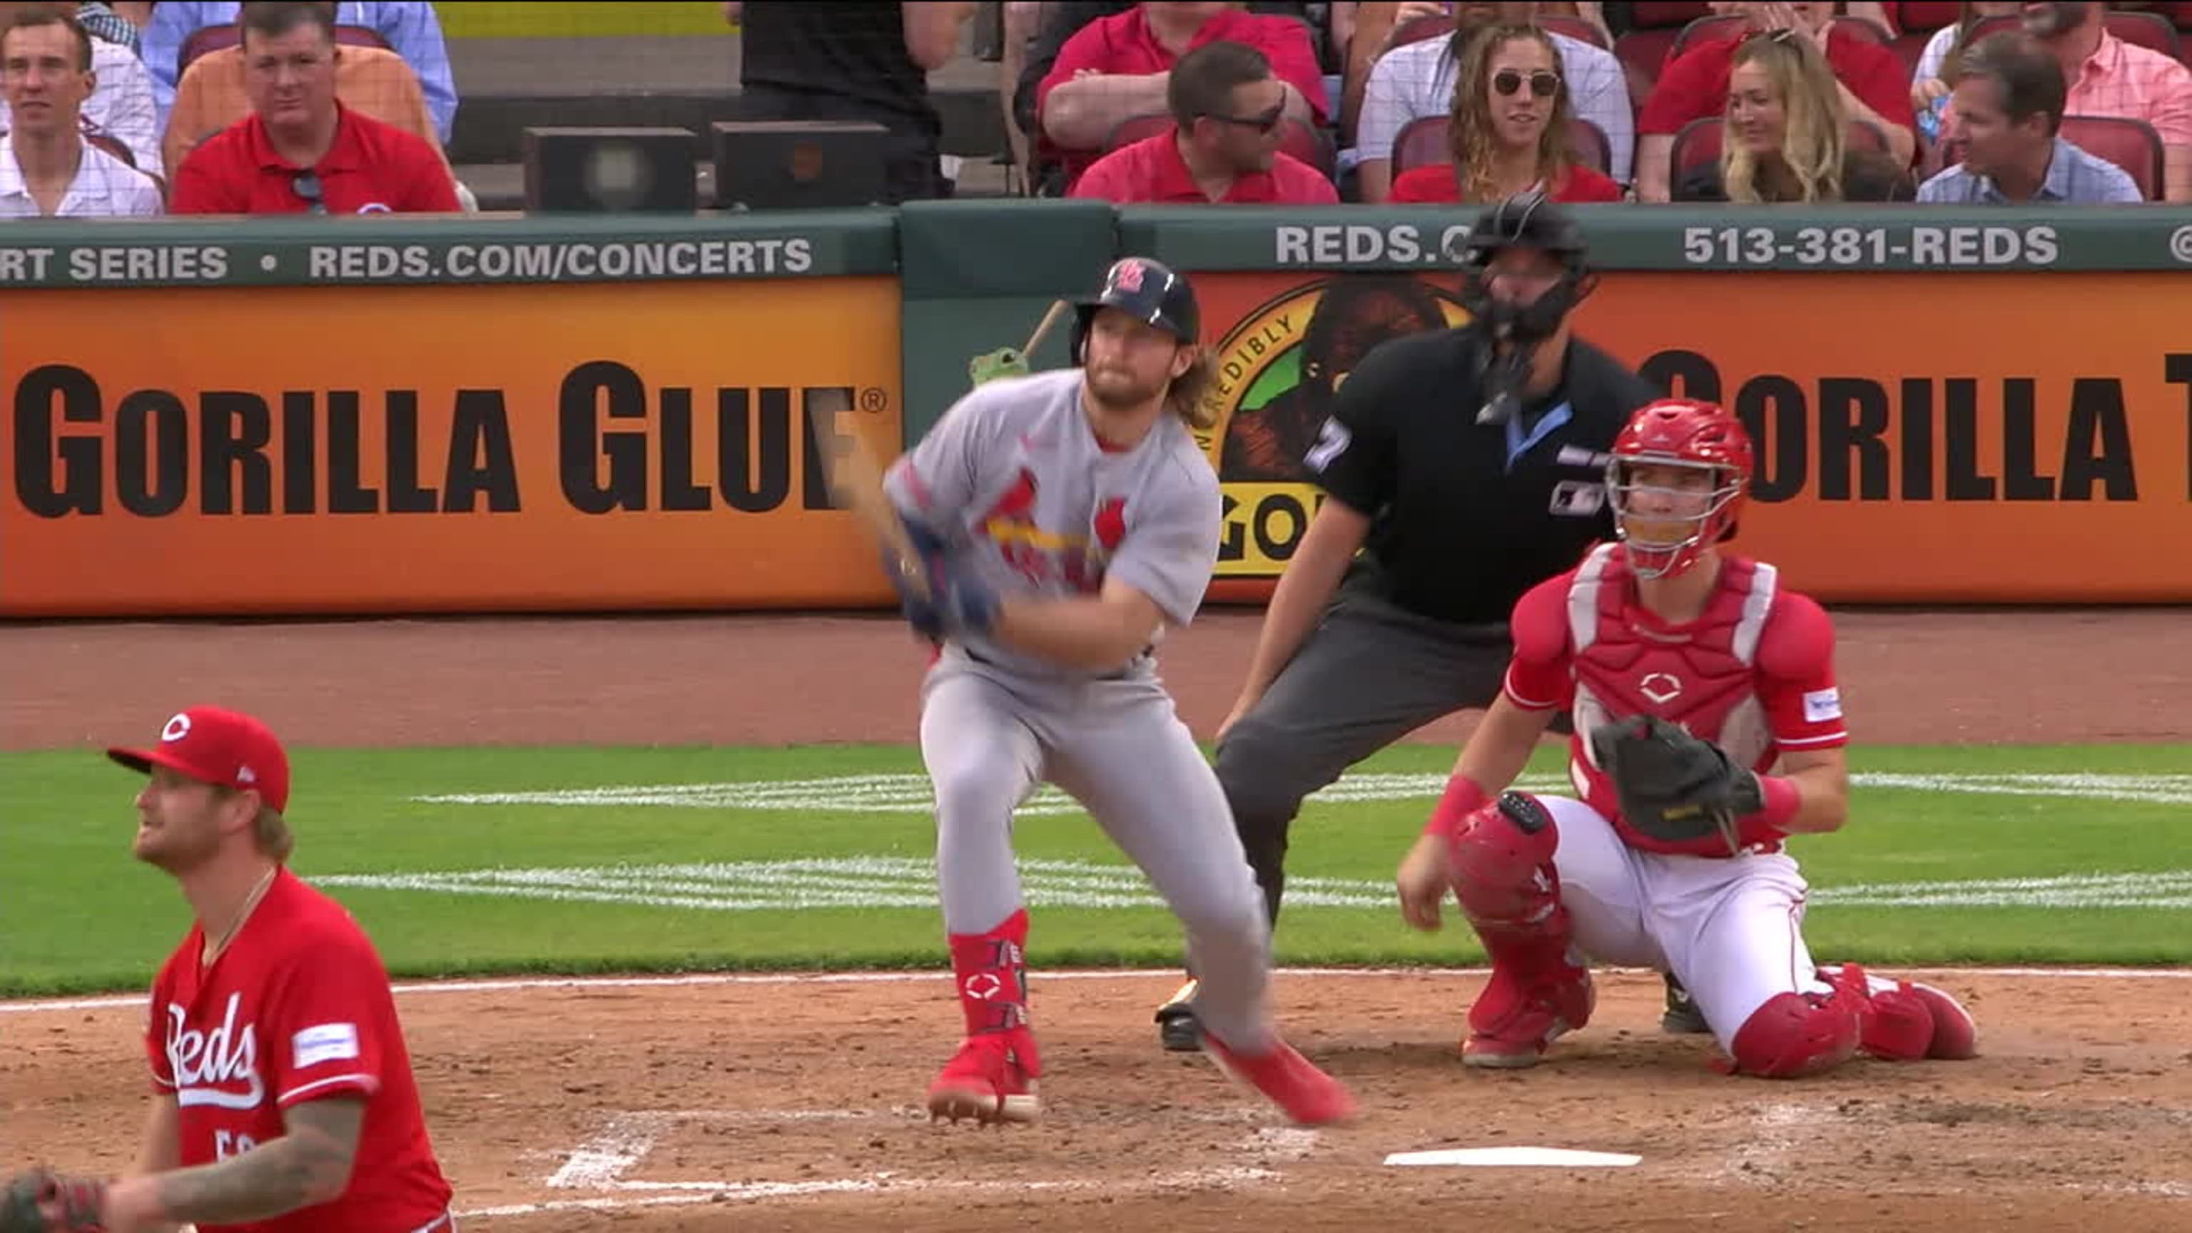
{"label": "pitcher in red Reds cap and jersey in the left foreground", "polygon": [[136,1165],[114,1183],[24,1174],[0,1233],[452,1233],[388,972],[287,869],[281,742],[193,706],[110,757],[149,774],[136,858],[197,921],[153,981]]}

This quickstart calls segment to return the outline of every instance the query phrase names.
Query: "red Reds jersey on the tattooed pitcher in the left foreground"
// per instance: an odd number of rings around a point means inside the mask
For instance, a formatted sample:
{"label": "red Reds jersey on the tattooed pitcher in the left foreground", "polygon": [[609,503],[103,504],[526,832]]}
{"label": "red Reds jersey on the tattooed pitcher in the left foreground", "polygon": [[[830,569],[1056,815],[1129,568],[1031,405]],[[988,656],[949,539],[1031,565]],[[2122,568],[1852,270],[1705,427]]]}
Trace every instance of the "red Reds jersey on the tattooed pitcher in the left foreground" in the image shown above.
{"label": "red Reds jersey on the tattooed pitcher in the left foreground", "polygon": [[419,1112],[388,972],[351,915],[287,869],[228,950],[191,928],[151,987],[153,1090],[182,1112],[182,1165],[281,1139],[283,1110],[366,1097],[351,1187],[335,1202],[199,1233],[403,1233],[449,1209]]}

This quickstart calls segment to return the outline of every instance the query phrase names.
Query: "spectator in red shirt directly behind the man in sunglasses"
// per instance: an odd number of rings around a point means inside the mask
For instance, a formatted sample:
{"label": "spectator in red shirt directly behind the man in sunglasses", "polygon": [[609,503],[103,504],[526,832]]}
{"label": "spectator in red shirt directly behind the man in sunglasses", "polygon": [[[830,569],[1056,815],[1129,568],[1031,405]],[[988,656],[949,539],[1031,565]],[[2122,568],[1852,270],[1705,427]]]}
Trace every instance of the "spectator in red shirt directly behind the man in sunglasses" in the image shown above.
{"label": "spectator in red shirt directly behind the man in sunglasses", "polygon": [[1166,110],[1179,57],[1219,39],[1247,44],[1271,61],[1287,94],[1287,116],[1324,123],[1324,72],[1302,22],[1247,13],[1238,4],[1135,4],[1081,26],[1035,88],[1041,143],[1065,165],[1068,191],[1120,121]]}

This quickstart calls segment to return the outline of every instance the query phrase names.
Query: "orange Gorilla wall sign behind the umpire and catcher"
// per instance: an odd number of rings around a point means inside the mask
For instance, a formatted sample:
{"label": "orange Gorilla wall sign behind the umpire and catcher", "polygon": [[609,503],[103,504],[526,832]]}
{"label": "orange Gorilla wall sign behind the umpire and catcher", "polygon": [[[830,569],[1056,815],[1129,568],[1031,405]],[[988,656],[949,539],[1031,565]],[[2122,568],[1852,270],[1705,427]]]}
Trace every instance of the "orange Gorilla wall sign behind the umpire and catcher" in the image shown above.
{"label": "orange Gorilla wall sign behind the umpire and catcher", "polygon": [[[1385,338],[1466,318],[1453,274],[1195,281],[1221,362],[1223,423],[1206,450],[1234,548],[1212,595],[1247,599],[1315,509],[1300,459],[1348,366]],[[1738,548],[1822,599],[2183,603],[2181,318],[2183,276],[2168,272],[1618,270],[1578,331],[1668,393],[1743,417],[1758,476]]]}

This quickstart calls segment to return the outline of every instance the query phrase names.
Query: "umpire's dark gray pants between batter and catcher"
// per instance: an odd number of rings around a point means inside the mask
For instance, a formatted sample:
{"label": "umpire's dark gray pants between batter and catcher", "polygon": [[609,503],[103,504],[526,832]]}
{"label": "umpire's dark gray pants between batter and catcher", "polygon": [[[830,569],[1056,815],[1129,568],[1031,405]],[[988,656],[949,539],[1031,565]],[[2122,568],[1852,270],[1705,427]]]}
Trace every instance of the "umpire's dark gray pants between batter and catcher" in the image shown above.
{"label": "umpire's dark gray pants between batter and catcher", "polygon": [[1370,595],[1359,575],[1342,584],[1302,649],[1219,742],[1219,783],[1271,924],[1302,796],[1423,724],[1491,706],[1510,654],[1504,621],[1436,621]]}

